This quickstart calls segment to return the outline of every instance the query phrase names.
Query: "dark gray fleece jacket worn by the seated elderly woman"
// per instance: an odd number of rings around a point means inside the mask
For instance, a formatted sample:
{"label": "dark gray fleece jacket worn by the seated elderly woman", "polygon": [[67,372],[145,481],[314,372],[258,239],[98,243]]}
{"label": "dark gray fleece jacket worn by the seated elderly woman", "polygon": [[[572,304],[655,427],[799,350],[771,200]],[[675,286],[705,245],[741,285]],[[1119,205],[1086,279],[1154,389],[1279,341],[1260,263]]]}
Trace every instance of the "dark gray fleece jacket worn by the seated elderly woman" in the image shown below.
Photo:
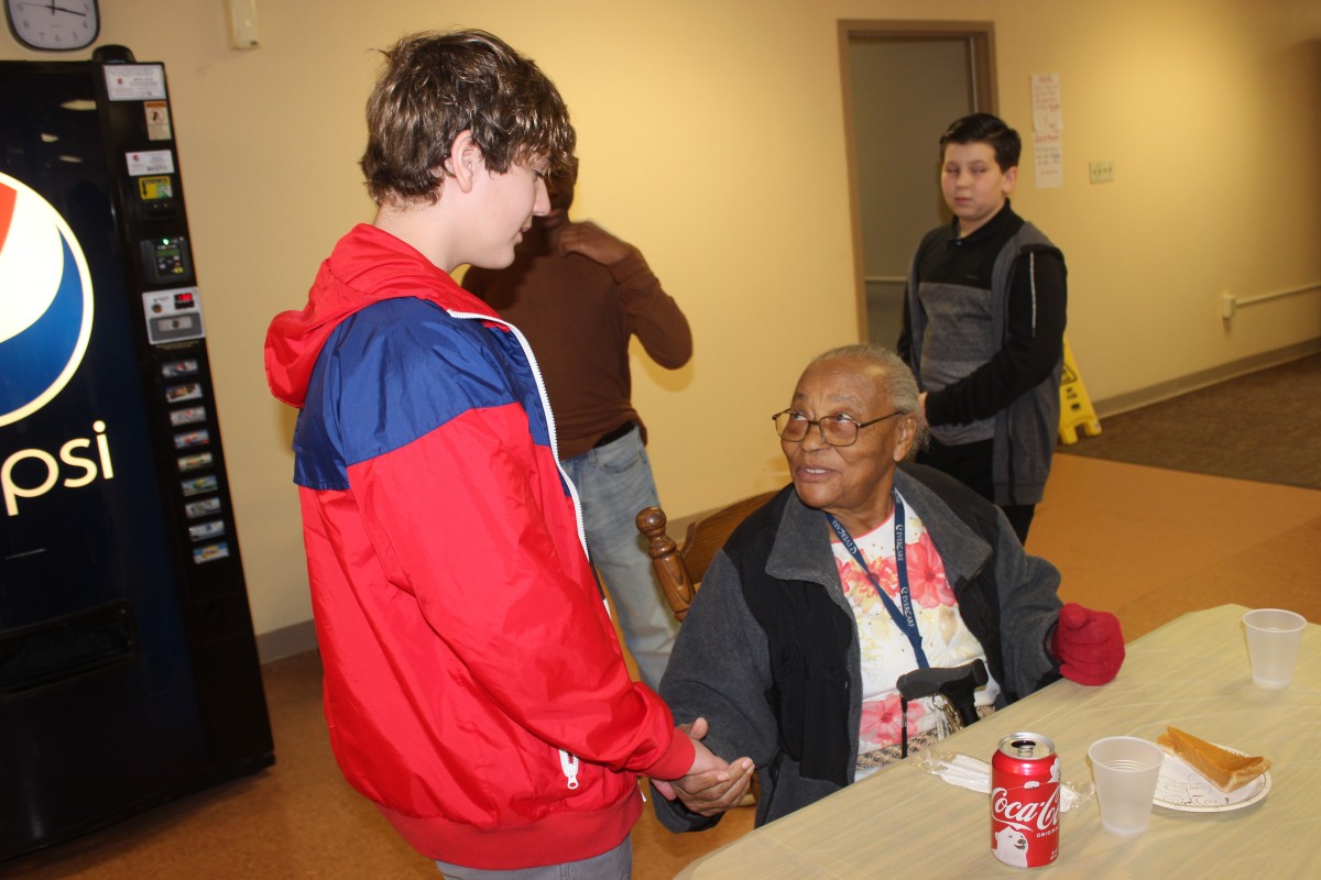
{"label": "dark gray fleece jacket worn by the seated elderly woman", "polygon": [[[1028,555],[1004,515],[939,471],[902,464],[894,486],[922,519],[987,652],[1001,701],[1058,677],[1046,650],[1059,616],[1059,573]],[[857,631],[830,526],[786,487],[716,555],[679,629],[660,695],[675,723],[705,718],[705,743],[757,764],[757,825],[853,781],[863,682]],[[715,825],[679,801],[654,798],[671,831]]]}

